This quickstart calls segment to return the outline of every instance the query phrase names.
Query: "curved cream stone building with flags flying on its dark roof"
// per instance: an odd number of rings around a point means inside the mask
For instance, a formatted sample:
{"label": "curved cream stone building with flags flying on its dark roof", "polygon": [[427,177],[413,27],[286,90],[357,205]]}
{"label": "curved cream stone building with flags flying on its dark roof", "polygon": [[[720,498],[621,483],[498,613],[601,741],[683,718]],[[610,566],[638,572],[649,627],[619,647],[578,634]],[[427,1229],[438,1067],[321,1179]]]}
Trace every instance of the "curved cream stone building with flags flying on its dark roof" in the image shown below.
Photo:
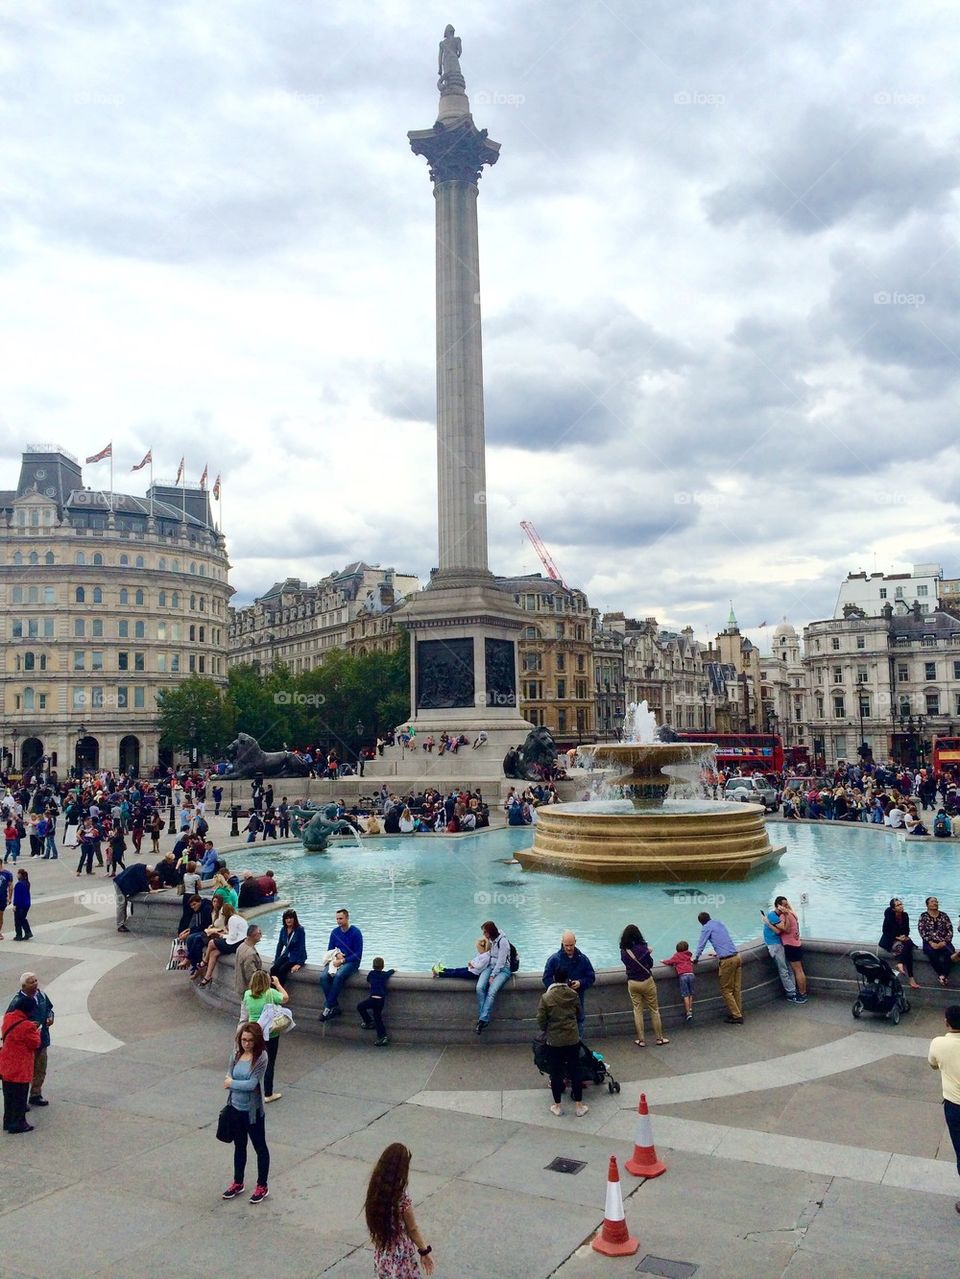
{"label": "curved cream stone building with flags flying on its dark roof", "polygon": [[226,682],[229,569],[203,489],[104,492],[65,449],[31,446],[0,492],[5,764],[156,767],[157,694]]}

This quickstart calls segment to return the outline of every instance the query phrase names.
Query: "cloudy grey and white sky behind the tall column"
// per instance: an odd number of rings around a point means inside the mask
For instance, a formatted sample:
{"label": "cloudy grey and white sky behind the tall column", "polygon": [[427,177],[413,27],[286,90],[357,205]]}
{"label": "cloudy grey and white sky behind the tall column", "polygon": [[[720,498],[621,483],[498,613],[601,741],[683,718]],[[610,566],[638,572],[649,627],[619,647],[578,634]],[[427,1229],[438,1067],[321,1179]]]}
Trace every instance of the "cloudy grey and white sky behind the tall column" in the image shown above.
{"label": "cloudy grey and white sky behind the tall column", "polygon": [[[0,3],[0,487],[224,478],[238,600],[436,564],[446,22],[481,182],[491,567],[741,628],[955,553],[946,4]],[[101,471],[104,478],[101,480]],[[87,468],[89,483],[106,468]],[[121,478],[123,477],[123,478]],[[129,483],[127,483],[129,478]]]}

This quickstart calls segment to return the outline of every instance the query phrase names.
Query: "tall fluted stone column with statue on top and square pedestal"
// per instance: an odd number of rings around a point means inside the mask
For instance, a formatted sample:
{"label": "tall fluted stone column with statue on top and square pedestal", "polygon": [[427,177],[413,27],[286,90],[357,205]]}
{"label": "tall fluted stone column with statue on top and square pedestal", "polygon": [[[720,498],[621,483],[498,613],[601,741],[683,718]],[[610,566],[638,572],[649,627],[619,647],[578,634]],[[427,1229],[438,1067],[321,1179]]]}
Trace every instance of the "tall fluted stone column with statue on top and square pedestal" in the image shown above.
{"label": "tall fluted stone column with statue on top and square pedestal", "polygon": [[530,725],[516,697],[516,638],[525,616],[487,568],[477,193],[500,143],[473,123],[460,52],[447,27],[437,122],[408,134],[414,153],[430,164],[436,205],[440,567],[401,622],[410,631],[418,732],[486,729],[491,744],[505,746],[523,741]]}

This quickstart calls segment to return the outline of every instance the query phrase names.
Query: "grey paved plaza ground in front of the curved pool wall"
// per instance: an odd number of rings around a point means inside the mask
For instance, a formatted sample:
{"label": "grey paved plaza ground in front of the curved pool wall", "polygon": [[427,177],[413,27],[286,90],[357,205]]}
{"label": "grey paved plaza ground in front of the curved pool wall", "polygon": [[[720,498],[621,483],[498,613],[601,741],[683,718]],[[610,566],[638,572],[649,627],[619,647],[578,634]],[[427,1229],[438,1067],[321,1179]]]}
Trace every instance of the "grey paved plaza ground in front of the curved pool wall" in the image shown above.
{"label": "grey paved plaza ground in front of the curved pool wall", "polygon": [[[222,847],[225,833],[215,824]],[[224,1204],[230,1151],[213,1129],[235,1022],[164,971],[169,943],[116,934],[109,881],[78,881],[69,859],[27,865],[35,940],[0,943],[0,971],[9,998],[36,969],[56,1024],[50,1106],[0,1145],[5,1279],[369,1276],[363,1196],[396,1140],[438,1275],[853,1279],[956,1264],[960,1178],[925,1064],[933,1007],[895,1028],[821,998],[743,1027],[695,1022],[662,1049],[603,1039],[623,1092],[588,1090],[579,1120],[550,1114],[523,1046],[377,1050],[294,1032],[267,1108],[270,1200]],[[623,1169],[631,1152],[640,1088],[669,1170],[623,1173],[640,1248],[607,1260],[585,1244],[608,1156]],[[557,1156],[584,1166],[548,1170]]]}

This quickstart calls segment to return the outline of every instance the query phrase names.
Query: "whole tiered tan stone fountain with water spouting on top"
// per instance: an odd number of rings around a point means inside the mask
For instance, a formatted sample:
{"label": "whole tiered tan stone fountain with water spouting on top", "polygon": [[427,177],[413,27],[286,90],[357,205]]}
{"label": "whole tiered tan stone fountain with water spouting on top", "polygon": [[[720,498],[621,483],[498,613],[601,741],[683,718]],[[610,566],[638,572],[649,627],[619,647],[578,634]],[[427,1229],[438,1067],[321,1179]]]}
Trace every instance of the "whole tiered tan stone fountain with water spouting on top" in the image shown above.
{"label": "whole tiered tan stone fountain with water spouting on top", "polygon": [[605,776],[603,797],[537,810],[533,847],[516,853],[525,870],[712,884],[745,879],[782,856],[759,804],[689,797],[712,757],[709,742],[660,741],[646,702],[629,707],[624,729],[628,741],[587,749],[620,769]]}

